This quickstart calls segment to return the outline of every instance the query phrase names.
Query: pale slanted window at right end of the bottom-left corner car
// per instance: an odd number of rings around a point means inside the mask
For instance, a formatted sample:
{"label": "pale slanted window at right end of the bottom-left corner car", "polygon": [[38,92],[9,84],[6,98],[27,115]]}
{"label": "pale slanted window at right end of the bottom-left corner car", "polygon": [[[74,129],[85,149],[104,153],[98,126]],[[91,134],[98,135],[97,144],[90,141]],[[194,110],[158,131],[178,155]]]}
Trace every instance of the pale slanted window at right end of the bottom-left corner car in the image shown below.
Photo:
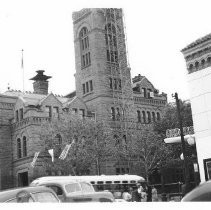
{"label": "pale slanted window at right end of the bottom-left corner car", "polygon": [[51,192],[33,193],[33,197],[35,199],[35,202],[40,202],[40,203],[58,203],[59,202],[59,200]]}

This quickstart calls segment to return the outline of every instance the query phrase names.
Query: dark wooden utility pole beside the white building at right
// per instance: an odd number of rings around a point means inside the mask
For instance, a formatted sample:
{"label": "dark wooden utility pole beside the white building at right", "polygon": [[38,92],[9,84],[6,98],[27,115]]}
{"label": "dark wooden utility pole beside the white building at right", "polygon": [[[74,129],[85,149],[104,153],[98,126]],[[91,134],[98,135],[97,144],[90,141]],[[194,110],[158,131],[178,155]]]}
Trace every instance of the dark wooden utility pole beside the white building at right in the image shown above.
{"label": "dark wooden utility pole beside the white building at right", "polygon": [[184,156],[184,171],[185,171],[185,194],[190,191],[190,172],[188,167],[188,159],[187,159],[187,152],[186,152],[186,146],[185,146],[185,139],[183,134],[183,125],[182,125],[182,117],[180,113],[180,100],[178,99],[178,94],[175,93],[172,94],[172,97],[176,100],[177,105],[177,115],[178,115],[178,121],[179,121],[179,128],[180,128],[180,136],[181,136],[181,143],[182,143],[182,153]]}

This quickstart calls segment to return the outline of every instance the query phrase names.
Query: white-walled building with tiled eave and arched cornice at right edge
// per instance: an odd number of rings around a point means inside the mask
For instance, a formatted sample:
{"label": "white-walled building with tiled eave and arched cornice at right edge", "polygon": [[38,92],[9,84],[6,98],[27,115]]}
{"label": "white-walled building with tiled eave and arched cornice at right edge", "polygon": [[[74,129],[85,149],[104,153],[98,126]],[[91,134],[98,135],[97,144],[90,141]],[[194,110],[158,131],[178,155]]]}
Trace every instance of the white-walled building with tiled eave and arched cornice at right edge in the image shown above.
{"label": "white-walled building with tiled eave and arched cornice at right edge", "polygon": [[211,34],[182,50],[187,66],[201,181],[211,179]]}

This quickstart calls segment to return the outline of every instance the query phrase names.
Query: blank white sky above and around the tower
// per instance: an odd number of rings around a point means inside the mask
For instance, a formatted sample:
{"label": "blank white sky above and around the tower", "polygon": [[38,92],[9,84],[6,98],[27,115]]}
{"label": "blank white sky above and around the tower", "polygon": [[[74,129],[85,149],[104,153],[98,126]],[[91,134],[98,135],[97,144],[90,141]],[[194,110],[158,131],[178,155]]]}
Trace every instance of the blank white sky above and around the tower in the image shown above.
{"label": "blank white sky above and around the tower", "polygon": [[[0,0],[0,93],[33,91],[35,71],[45,70],[49,91],[75,90],[72,12],[123,8],[131,76],[146,76],[168,100],[189,99],[181,49],[211,33],[208,0]],[[21,50],[24,50],[24,71]]]}

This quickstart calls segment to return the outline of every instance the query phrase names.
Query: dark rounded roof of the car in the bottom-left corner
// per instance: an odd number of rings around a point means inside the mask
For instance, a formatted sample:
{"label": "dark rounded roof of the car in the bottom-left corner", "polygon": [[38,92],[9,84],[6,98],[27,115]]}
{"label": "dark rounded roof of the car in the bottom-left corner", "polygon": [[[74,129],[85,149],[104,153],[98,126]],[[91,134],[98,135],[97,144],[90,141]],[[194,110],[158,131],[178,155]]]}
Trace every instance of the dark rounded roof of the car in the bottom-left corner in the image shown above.
{"label": "dark rounded roof of the car in the bottom-left corner", "polygon": [[13,189],[7,189],[4,191],[0,191],[0,202],[4,202],[8,199],[15,198],[18,192],[21,191],[26,191],[29,193],[34,193],[34,192],[53,192],[50,188],[44,187],[44,186],[33,186],[33,187],[18,187],[18,188],[13,188]]}

